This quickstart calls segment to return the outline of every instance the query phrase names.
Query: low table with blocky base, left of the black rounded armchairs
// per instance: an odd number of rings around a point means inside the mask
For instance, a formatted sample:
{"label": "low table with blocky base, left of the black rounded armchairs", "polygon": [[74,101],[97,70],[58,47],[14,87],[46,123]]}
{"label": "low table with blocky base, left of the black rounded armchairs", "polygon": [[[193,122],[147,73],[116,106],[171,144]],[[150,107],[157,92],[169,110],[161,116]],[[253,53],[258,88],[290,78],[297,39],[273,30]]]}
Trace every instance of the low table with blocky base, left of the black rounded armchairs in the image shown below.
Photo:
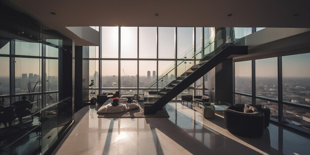
{"label": "low table with blocky base, left of the black rounded armchairs", "polygon": [[224,111],[230,104],[228,103],[203,103],[199,104],[200,108],[203,108],[204,118],[214,118],[216,111]]}

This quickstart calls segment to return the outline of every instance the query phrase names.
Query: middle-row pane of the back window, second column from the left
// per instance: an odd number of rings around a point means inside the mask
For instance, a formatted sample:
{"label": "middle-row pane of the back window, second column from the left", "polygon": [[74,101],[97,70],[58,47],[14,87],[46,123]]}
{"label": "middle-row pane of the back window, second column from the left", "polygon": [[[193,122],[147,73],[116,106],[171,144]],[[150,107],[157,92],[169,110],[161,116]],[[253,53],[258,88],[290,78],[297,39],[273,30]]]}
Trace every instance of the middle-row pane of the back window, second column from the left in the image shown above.
{"label": "middle-row pane of the back window, second column from the left", "polygon": [[118,60],[102,60],[102,87],[118,88]]}

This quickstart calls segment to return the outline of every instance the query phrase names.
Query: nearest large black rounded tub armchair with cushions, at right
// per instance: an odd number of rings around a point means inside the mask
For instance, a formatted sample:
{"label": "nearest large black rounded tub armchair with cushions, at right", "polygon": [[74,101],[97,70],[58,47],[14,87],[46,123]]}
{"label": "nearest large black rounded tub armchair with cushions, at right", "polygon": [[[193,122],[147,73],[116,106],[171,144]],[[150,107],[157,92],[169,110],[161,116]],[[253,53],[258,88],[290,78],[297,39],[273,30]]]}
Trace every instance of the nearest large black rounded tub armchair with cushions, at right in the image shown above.
{"label": "nearest large black rounded tub armchair with cushions, at right", "polygon": [[224,110],[226,129],[244,137],[261,137],[264,130],[264,113],[245,113],[244,107],[230,106]]}

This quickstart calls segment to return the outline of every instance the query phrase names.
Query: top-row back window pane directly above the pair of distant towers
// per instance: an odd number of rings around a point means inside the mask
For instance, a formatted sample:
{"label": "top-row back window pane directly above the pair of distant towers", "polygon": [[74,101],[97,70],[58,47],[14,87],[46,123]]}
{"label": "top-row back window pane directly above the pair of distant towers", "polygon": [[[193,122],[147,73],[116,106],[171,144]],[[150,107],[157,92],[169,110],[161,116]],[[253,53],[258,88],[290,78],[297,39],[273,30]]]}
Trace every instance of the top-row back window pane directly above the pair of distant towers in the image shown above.
{"label": "top-row back window pane directly above the pair of distant towers", "polygon": [[157,57],[157,28],[139,27],[139,58]]}

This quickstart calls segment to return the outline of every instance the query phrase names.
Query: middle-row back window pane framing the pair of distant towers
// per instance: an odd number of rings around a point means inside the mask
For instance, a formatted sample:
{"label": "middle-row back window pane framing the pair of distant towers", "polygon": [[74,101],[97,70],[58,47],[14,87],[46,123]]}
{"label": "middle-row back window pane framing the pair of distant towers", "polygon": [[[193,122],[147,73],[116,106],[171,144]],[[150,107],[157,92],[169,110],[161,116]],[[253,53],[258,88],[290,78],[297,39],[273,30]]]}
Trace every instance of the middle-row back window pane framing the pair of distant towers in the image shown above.
{"label": "middle-row back window pane framing the pair of distant towers", "polygon": [[149,88],[155,79],[156,61],[139,61],[139,88]]}

